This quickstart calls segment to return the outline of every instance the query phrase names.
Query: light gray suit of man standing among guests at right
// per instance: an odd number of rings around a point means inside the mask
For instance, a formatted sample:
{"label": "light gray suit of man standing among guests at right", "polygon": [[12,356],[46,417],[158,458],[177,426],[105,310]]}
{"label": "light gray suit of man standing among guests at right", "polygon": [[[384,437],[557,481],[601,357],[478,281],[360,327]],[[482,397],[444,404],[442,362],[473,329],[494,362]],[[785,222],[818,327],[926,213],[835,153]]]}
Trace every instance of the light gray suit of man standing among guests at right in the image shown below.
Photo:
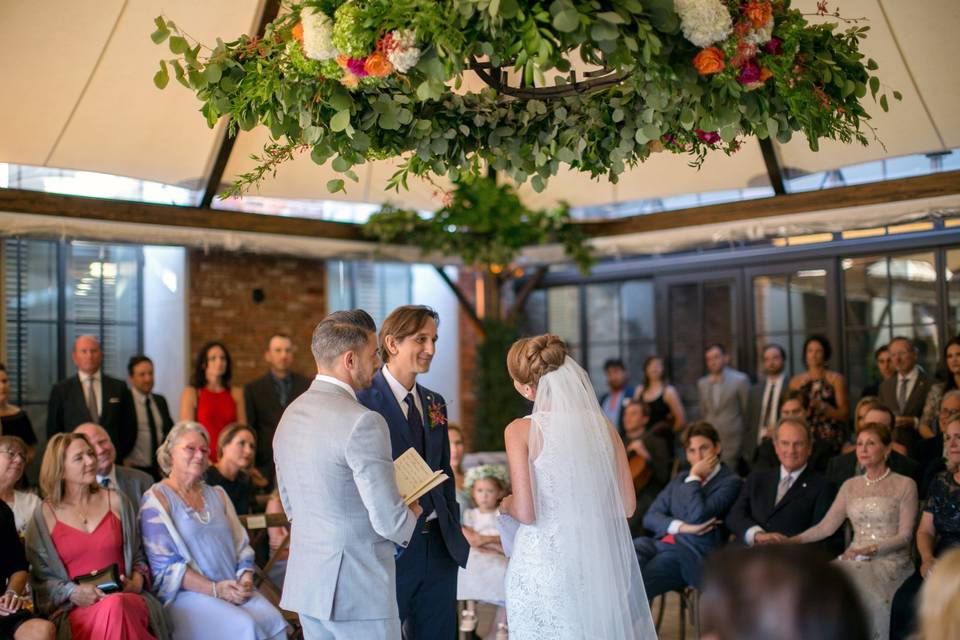
{"label": "light gray suit of man standing among guests at right", "polygon": [[700,419],[712,424],[720,434],[723,447],[720,457],[734,470],[743,447],[749,392],[750,380],[746,374],[730,367],[723,368],[716,384],[710,382],[709,375],[697,381]]}

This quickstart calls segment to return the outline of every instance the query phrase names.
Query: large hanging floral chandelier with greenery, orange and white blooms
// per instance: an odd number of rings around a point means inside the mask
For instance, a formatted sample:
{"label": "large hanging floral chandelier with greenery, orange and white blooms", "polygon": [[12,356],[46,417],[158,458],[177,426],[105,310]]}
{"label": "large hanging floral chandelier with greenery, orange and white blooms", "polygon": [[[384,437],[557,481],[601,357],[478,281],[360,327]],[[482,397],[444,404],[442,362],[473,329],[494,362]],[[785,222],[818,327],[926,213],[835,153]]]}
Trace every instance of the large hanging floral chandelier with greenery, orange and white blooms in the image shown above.
{"label": "large hanging floral chandelier with greenery, orange and white blooms", "polygon": [[868,91],[888,108],[869,27],[809,17],[788,0],[307,0],[212,49],[158,17],[175,57],[154,82],[172,71],[211,127],[270,130],[226,196],[301,153],[343,175],[330,191],[385,158],[387,188],[492,168],[541,191],[561,165],[616,182],[651,153],[699,165],[747,136],[867,144]]}

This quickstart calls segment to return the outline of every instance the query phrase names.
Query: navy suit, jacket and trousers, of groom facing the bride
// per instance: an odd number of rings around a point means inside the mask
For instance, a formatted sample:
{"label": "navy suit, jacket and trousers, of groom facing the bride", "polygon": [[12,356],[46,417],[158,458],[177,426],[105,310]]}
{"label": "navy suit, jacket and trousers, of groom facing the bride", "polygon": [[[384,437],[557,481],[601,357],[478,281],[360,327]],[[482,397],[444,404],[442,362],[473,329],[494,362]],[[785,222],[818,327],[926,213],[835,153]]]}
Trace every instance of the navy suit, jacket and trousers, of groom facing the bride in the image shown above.
{"label": "navy suit, jacket and trousers, of groom facing the bride", "polygon": [[[424,460],[431,469],[446,473],[450,480],[434,487],[424,496],[426,499],[420,499],[424,509],[417,533],[397,558],[397,604],[404,638],[451,640],[457,635],[458,565],[466,566],[470,545],[460,528],[443,397],[419,384],[416,390],[423,406]],[[394,459],[414,446],[410,425],[382,371],[374,376],[373,385],[357,396],[365,407],[387,421]],[[431,426],[431,407],[441,408],[443,424]],[[426,522],[432,510],[437,518]]]}

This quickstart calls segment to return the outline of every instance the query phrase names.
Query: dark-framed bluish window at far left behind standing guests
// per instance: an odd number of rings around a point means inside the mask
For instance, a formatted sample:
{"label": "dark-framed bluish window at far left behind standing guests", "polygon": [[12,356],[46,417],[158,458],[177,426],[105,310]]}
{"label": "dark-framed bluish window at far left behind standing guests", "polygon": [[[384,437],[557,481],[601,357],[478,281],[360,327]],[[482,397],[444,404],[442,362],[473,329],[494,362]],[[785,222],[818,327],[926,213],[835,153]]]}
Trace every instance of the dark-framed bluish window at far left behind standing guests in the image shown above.
{"label": "dark-framed bluish window at far left behind standing guests", "polygon": [[4,336],[10,398],[44,435],[51,387],[74,373],[73,341],[96,336],[103,371],[125,378],[142,350],[142,249],[9,239],[3,244]]}

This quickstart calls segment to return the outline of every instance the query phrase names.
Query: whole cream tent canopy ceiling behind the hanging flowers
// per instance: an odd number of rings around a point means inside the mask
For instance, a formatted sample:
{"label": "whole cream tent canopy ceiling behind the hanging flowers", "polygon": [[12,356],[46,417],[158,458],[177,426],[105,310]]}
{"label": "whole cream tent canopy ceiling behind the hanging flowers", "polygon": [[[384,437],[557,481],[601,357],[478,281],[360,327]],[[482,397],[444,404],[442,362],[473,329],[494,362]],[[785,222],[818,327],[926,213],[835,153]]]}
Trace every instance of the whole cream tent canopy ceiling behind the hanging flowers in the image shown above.
{"label": "whole cream tent canopy ceiling behind the hanging flowers", "polygon": [[[207,128],[192,92],[172,83],[158,91],[152,76],[164,47],[149,34],[153,18],[164,14],[192,37],[213,43],[232,38],[256,24],[259,0],[98,0],[67,2],[11,0],[0,4],[0,54],[5,69],[6,100],[0,102],[0,162],[97,171],[198,188],[211,172],[222,127]],[[794,6],[816,11],[815,0]],[[885,148],[878,143],[821,144],[809,150],[802,136],[776,145],[784,167],[804,172],[914,153],[960,147],[960,127],[953,122],[960,104],[960,3],[927,0],[844,0],[846,17],[865,17],[871,30],[864,53],[877,60],[889,90],[902,92],[890,113],[869,99],[868,108]],[[817,19],[817,18],[813,18]],[[224,180],[253,166],[249,159],[266,140],[262,129],[242,133]],[[732,157],[716,154],[701,170],[688,158],[657,154],[621,176],[619,184],[561,174],[536,194],[521,194],[531,206],[564,200],[574,206],[603,205],[672,195],[742,189],[762,184],[767,171],[756,140],[748,140]],[[409,192],[384,191],[394,162],[371,163],[357,172],[360,183],[331,195],[326,182],[335,172],[301,157],[280,168],[258,195],[278,198],[392,201],[433,209],[436,187],[416,181]],[[438,181],[441,186],[442,181]]]}

